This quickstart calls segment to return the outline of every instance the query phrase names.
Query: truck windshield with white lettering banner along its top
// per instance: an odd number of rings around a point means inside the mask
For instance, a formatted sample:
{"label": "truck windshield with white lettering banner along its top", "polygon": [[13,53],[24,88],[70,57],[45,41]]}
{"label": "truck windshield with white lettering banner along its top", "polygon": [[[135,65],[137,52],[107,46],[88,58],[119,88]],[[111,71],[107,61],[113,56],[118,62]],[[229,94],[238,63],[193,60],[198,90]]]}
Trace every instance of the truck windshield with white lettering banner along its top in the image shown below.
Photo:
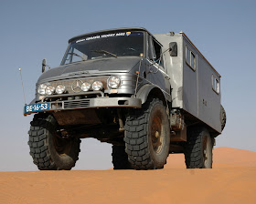
{"label": "truck windshield with white lettering banner along its top", "polygon": [[140,56],[141,53],[144,53],[143,32],[85,36],[69,44],[61,65],[102,57]]}

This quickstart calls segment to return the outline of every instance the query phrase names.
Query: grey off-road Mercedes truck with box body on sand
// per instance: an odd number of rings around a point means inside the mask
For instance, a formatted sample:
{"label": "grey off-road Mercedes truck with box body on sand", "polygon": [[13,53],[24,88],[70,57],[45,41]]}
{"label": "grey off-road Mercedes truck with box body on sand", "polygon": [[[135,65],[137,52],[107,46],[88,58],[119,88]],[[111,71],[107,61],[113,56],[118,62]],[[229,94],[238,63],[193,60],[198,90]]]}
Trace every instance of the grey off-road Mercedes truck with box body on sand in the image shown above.
{"label": "grey off-road Mercedes truck with box body on sand", "polygon": [[[220,75],[184,33],[129,27],[69,39],[60,66],[38,78],[28,145],[37,168],[71,169],[80,139],[112,144],[114,169],[212,168],[226,123]],[[101,149],[99,149],[100,151]]]}

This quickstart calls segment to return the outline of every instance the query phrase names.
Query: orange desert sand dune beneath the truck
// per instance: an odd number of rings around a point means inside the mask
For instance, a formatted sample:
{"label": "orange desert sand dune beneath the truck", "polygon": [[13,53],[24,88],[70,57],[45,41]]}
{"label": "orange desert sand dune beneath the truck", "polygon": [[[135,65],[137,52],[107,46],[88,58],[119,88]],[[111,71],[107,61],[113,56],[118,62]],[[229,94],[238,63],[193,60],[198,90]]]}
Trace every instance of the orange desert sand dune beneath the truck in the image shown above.
{"label": "orange desert sand dune beneath the truck", "polygon": [[0,172],[0,203],[256,203],[256,152],[216,148],[212,169]]}

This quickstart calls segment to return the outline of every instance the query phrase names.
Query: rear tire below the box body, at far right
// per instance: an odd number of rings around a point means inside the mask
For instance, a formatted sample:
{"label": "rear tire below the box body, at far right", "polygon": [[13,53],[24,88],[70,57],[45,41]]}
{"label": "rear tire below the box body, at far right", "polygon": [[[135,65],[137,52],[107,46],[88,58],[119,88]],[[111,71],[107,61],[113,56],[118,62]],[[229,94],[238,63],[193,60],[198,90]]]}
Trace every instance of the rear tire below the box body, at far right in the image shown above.
{"label": "rear tire below the box body, at far right", "polygon": [[187,131],[185,159],[187,168],[212,168],[213,139],[206,128]]}

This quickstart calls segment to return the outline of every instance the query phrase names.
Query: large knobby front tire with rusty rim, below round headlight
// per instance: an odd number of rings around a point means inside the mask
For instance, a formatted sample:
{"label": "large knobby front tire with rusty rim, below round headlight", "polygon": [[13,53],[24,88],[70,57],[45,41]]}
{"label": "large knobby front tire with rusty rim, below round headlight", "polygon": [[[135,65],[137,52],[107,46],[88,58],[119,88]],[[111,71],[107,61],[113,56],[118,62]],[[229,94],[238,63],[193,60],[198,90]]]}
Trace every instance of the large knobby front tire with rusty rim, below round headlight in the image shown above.
{"label": "large knobby front tire with rusty rim, below round headlight", "polygon": [[165,106],[152,99],[126,118],[125,151],[135,169],[164,168],[170,147],[170,126]]}

